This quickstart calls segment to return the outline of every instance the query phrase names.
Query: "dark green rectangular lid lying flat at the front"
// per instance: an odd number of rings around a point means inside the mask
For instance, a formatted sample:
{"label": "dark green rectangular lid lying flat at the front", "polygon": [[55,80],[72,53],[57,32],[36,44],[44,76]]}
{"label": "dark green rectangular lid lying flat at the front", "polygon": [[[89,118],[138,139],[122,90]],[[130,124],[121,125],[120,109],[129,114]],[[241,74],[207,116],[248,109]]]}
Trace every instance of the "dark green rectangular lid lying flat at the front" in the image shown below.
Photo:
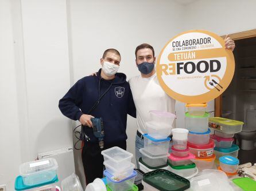
{"label": "dark green rectangular lid lying flat at the front", "polygon": [[164,169],[144,174],[143,181],[161,191],[183,191],[190,187],[189,180]]}

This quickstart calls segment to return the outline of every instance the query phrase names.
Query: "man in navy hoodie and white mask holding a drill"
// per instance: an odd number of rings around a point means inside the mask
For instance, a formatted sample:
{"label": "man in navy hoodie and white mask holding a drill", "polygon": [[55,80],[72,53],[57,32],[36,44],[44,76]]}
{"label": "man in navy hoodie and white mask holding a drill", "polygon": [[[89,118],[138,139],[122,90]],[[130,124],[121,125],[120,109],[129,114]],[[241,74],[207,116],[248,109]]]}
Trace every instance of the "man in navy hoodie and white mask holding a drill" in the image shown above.
{"label": "man in navy hoodie and white mask holding a drill", "polygon": [[[97,75],[79,79],[59,102],[64,116],[79,120],[82,131],[90,137],[84,140],[82,160],[86,183],[103,176],[103,149],[92,130],[91,118],[103,118],[104,149],[119,146],[126,150],[127,114],[136,117],[129,83],[126,75],[117,73],[121,61],[120,53],[115,49],[104,51]],[[100,101],[99,101],[100,100]]]}

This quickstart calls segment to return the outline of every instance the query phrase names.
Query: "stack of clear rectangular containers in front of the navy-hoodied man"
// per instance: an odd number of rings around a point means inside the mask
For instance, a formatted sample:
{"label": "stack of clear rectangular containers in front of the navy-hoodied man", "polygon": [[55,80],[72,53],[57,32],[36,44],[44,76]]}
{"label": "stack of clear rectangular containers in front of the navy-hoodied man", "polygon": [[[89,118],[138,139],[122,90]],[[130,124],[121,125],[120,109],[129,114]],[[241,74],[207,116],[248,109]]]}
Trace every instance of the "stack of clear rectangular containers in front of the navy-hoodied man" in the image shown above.
{"label": "stack of clear rectangular containers in front of the navy-hoodied man", "polygon": [[133,190],[134,180],[137,172],[134,170],[134,164],[131,163],[133,154],[117,146],[102,151],[104,157],[103,164],[106,167],[104,176],[106,176],[107,186],[112,191]]}

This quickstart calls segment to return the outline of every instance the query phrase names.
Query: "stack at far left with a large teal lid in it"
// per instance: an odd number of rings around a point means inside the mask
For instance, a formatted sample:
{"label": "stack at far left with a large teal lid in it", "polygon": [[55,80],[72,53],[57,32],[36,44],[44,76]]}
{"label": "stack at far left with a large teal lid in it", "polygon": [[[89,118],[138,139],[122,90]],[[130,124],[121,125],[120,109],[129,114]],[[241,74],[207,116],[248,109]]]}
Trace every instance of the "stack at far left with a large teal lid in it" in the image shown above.
{"label": "stack at far left with a large teal lid in it", "polygon": [[57,168],[58,164],[54,158],[21,164],[21,175],[15,179],[15,190],[60,190],[55,185],[59,181]]}

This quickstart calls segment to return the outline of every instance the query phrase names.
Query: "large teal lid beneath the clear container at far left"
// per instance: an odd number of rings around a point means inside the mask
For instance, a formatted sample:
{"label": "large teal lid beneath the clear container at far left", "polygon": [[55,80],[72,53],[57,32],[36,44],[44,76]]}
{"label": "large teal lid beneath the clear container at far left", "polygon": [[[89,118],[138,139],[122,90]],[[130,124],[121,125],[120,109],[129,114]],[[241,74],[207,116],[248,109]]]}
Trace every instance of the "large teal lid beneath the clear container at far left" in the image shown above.
{"label": "large teal lid beneath the clear container at far left", "polygon": [[24,184],[22,176],[18,176],[15,179],[15,184],[14,185],[15,185],[15,190],[28,190],[28,189],[32,189],[32,188],[48,185],[48,184],[53,184],[53,183],[58,182],[58,181],[59,181],[59,179],[58,179],[58,177],[56,175],[55,178],[53,178],[53,180],[51,180],[51,181],[44,182],[44,183],[41,183],[41,184],[35,184],[35,185],[29,185],[28,186],[28,185]]}

